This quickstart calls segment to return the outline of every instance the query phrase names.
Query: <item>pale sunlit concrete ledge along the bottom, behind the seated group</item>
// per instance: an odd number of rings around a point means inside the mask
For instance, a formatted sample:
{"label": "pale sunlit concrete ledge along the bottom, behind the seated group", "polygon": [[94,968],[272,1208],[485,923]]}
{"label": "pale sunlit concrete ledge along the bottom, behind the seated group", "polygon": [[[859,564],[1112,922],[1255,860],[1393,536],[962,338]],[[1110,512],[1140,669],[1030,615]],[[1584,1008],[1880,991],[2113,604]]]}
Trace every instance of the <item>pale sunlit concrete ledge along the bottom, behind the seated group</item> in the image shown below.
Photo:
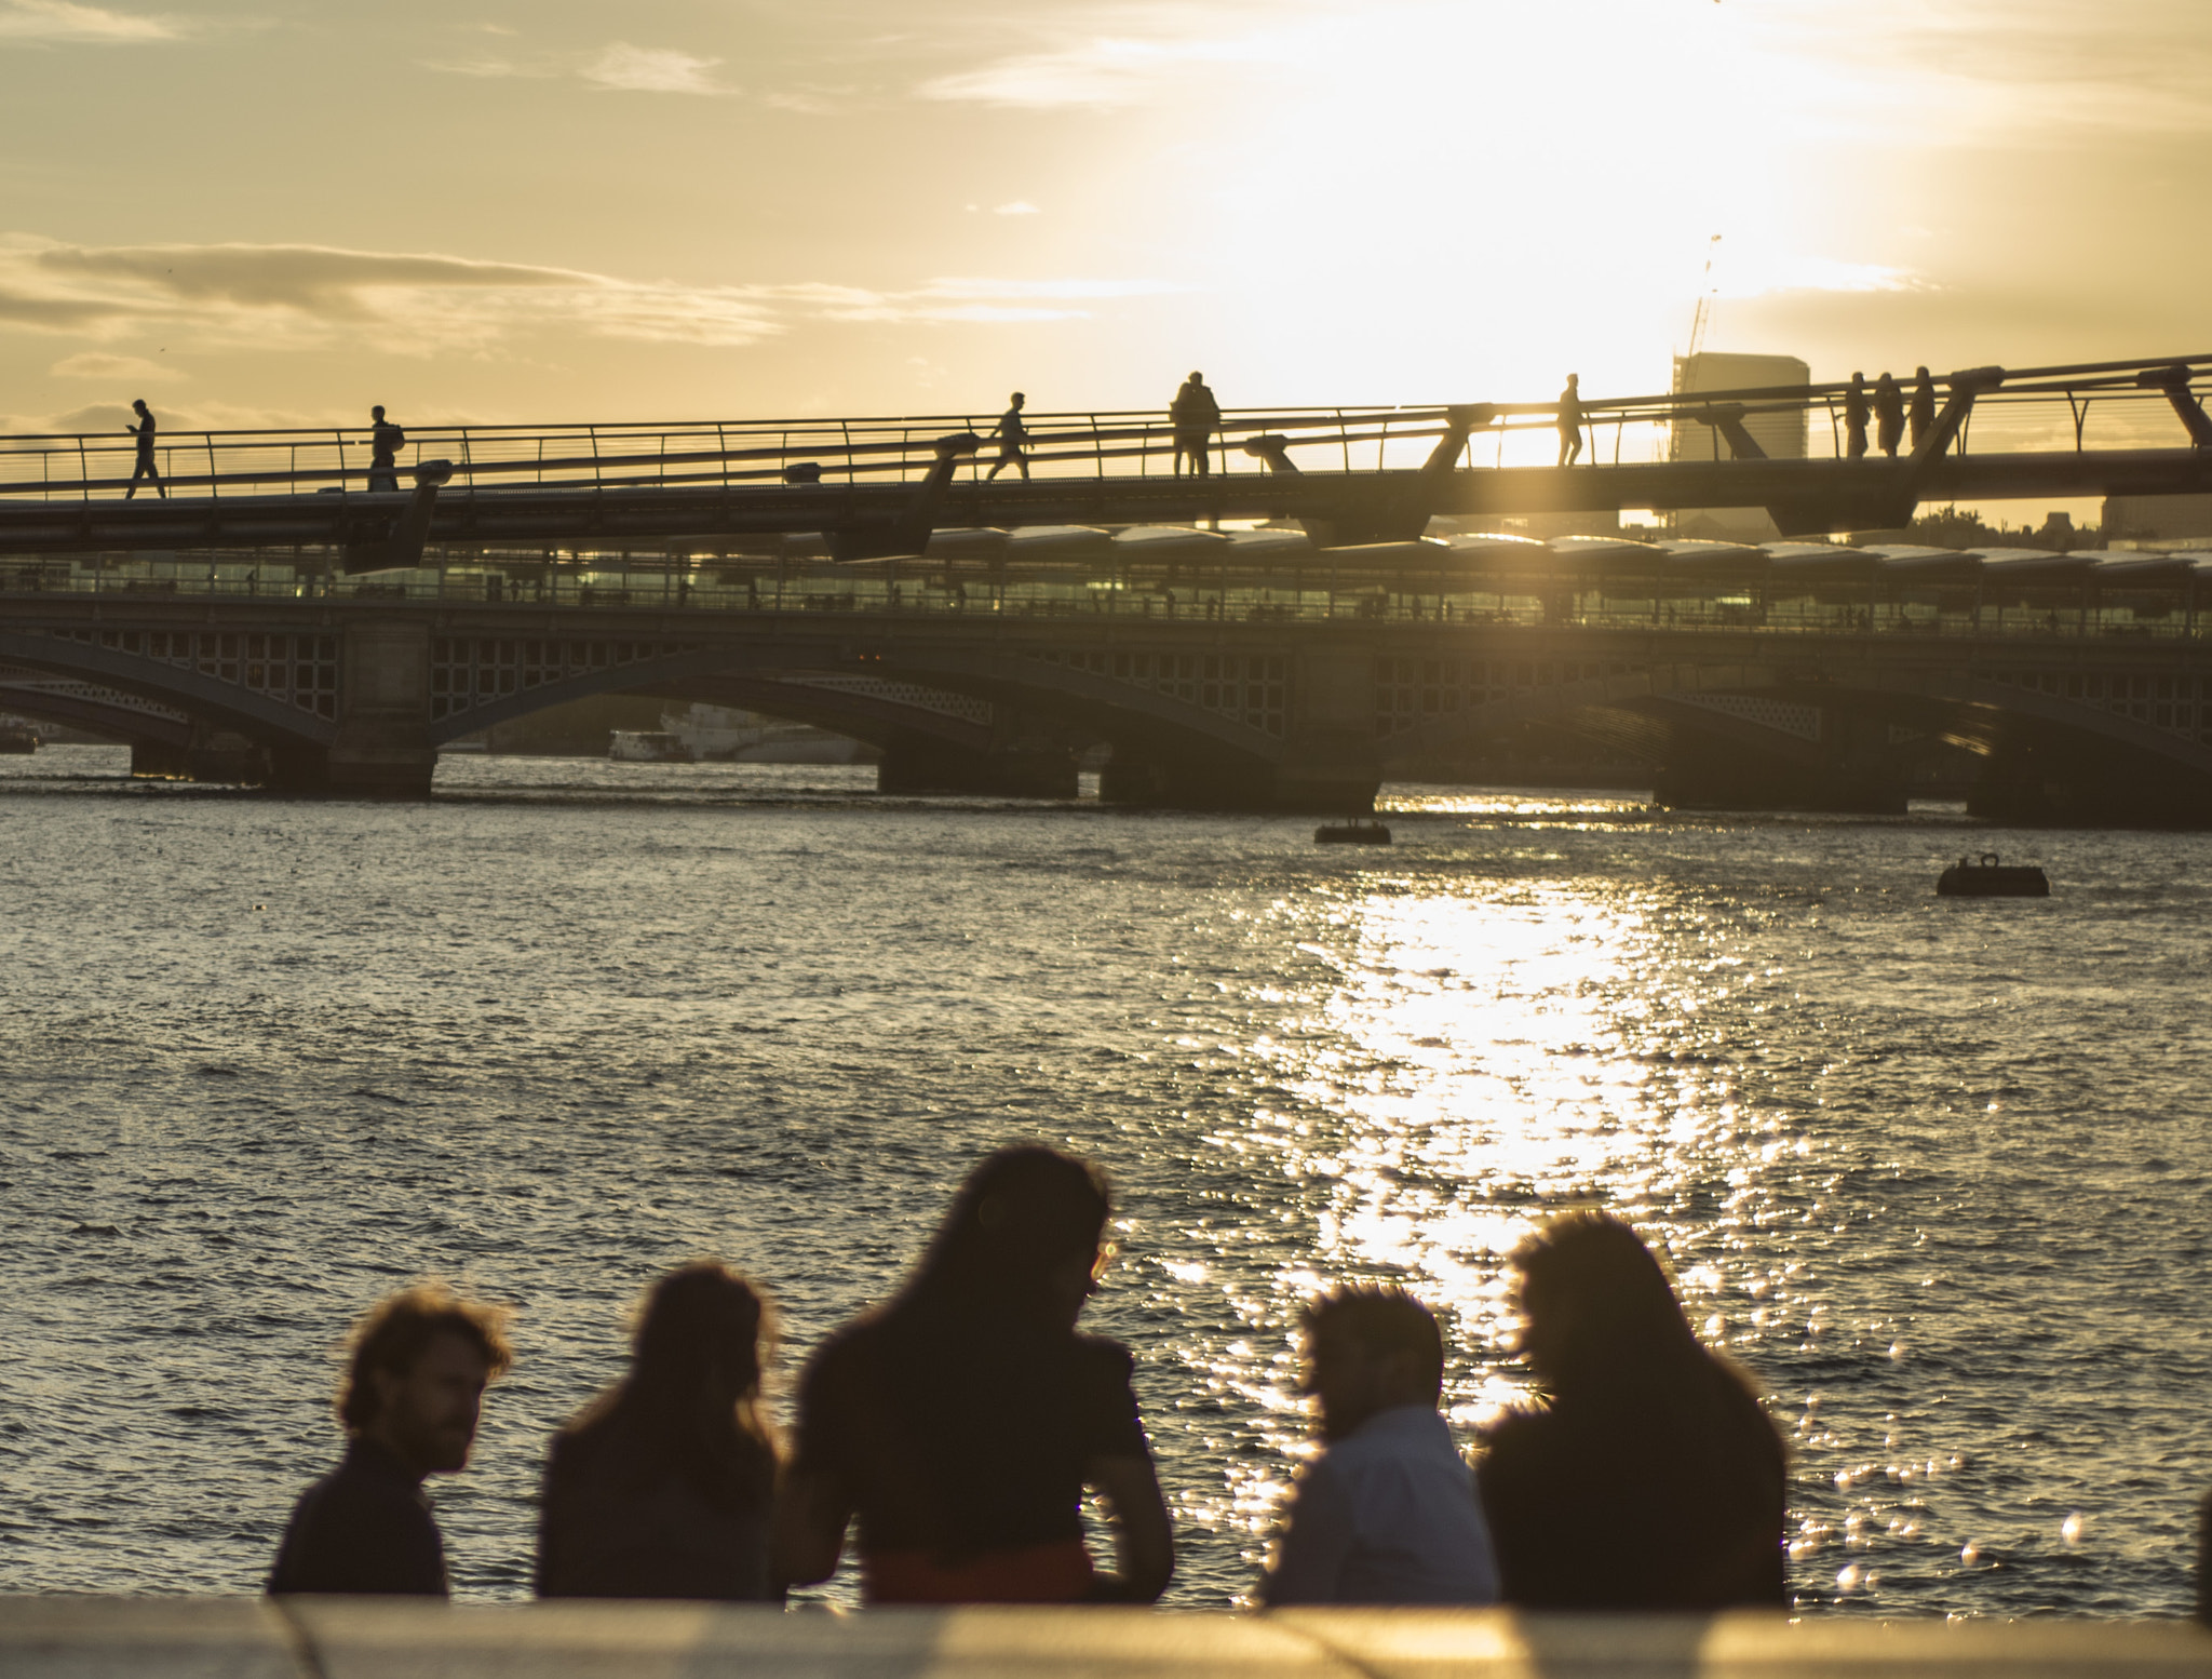
{"label": "pale sunlit concrete ledge along the bottom, behind the seated group", "polygon": [[2212,1679],[2183,1621],[0,1597],[7,1679]]}

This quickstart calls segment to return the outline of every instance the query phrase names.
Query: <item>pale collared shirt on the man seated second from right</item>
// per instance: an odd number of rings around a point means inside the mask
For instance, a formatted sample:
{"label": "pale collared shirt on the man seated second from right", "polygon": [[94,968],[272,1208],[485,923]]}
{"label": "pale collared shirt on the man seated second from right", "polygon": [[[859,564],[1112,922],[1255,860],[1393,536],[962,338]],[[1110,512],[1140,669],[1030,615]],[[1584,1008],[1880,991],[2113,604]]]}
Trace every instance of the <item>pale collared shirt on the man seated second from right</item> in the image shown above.
{"label": "pale collared shirt on the man seated second from right", "polygon": [[1498,1602],[1475,1478],[1436,1407],[1376,1411],[1307,1464],[1259,1599],[1270,1608]]}

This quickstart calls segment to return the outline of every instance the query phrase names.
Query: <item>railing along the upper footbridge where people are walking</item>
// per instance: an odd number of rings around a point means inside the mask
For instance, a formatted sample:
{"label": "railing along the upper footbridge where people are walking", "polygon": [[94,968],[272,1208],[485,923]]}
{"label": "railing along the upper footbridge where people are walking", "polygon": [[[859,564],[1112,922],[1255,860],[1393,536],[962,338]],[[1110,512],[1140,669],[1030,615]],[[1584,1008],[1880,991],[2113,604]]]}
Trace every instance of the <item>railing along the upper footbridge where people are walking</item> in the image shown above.
{"label": "railing along the upper footbridge where people are walking", "polygon": [[[2068,367],[1969,369],[1933,378],[1936,400],[1960,398],[1947,449],[2212,447],[2212,420],[2194,385],[2212,378],[2212,356],[2168,356]],[[1909,385],[1909,380],[1907,380]],[[1909,400],[1909,389],[1905,398]],[[1666,392],[1586,398],[1579,407],[1584,465],[1725,460],[1734,427],[1767,436],[1767,453],[1849,453],[1845,383],[1739,392]],[[1880,416],[1867,392],[1869,449]],[[1776,431],[1774,425],[1781,423]],[[405,442],[376,453],[365,427],[161,431],[150,447],[159,489],[190,498],[403,493],[414,471],[449,462],[447,493],[515,489],[763,487],[779,482],[900,482],[927,473],[947,438],[973,438],[962,471],[1013,469],[993,438],[993,414],[867,418],[675,420],[624,425],[416,425]],[[1790,442],[1790,434],[1796,442]],[[1228,409],[1203,431],[1212,471],[1369,471],[1422,465],[1458,438],[1455,465],[1548,465],[1559,407],[1546,403],[1345,405]],[[1918,442],[1911,425],[1900,442]],[[1781,438],[1781,442],[1776,442]],[[1194,438],[1161,409],[1024,414],[1022,465],[1044,478],[1124,478],[1192,471]],[[24,500],[115,500],[155,496],[135,484],[137,438],[124,431],[0,438],[0,504]]]}

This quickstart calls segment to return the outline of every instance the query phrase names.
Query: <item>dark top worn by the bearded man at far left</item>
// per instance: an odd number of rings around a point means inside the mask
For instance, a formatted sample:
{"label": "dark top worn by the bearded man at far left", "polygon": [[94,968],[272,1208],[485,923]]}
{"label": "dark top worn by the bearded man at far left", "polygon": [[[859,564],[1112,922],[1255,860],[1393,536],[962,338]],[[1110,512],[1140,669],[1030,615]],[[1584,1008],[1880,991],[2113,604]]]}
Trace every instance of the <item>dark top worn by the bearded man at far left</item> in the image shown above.
{"label": "dark top worn by the bearded man at far left", "polygon": [[354,1440],[292,1506],[268,1591],[447,1597],[422,1482],[374,1440]]}

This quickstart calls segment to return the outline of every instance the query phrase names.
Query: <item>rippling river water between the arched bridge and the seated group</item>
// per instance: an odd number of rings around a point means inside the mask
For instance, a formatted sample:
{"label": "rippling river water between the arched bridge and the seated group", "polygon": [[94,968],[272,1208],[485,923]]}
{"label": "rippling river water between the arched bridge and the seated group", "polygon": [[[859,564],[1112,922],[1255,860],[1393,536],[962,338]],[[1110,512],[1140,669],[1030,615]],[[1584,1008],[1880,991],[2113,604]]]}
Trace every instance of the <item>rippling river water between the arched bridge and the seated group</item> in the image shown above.
{"label": "rippling river water between the arched bridge and the seated group", "polygon": [[[546,1429],[712,1252],[781,1378],[958,1177],[1102,1161],[1181,1566],[1248,1588],[1340,1279],[1511,1400],[1504,1252],[1619,1208],[1792,1442],[1812,1613],[2172,1615],[2212,1482],[2212,838],[1692,818],[1394,788],[1310,823],[883,801],[867,770],[447,759],[427,805],[0,759],[0,1588],[254,1591],[334,1347],[438,1272],[520,1310],[465,1597]],[[2048,903],[1955,903],[1962,849]],[[849,1595],[838,1582],[830,1595]]]}

